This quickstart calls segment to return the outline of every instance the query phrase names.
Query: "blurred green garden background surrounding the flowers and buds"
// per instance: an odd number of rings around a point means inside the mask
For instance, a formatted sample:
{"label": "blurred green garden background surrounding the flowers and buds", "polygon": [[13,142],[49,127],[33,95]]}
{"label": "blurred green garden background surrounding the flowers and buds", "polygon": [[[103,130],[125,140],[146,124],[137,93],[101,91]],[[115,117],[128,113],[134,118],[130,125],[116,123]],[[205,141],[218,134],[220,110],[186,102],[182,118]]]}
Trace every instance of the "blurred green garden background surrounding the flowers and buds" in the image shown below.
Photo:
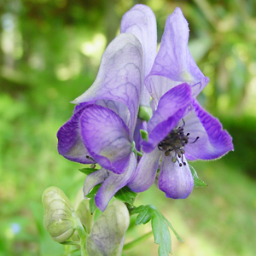
{"label": "blurred green garden background surrounding the flowers and buds", "polygon": [[[57,153],[58,128],[96,78],[122,15],[136,3],[154,10],[158,39],[179,6],[189,21],[189,48],[210,83],[201,104],[220,119],[235,152],[195,162],[208,187],[186,200],[154,186],[139,204],[154,204],[185,243],[173,255],[255,255],[256,2],[255,0],[1,0],[0,2],[0,255],[61,255],[44,230],[41,195],[50,185],[71,200],[83,186],[81,165]],[[126,241],[150,230],[130,230]],[[157,255],[153,239],[125,256]],[[78,255],[78,253],[77,253]]]}

